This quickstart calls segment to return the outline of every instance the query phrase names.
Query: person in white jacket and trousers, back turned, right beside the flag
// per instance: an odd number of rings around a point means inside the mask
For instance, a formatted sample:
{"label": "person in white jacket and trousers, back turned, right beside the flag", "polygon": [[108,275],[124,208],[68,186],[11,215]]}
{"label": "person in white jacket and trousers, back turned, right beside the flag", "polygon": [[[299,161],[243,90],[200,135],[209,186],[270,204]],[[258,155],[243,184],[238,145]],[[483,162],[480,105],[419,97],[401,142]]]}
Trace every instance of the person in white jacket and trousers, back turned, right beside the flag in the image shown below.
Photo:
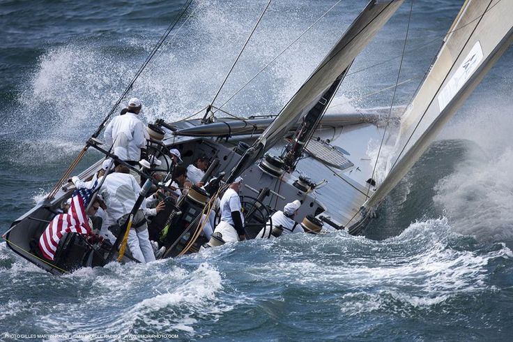
{"label": "person in white jacket and trousers, back turned, right beside the flag", "polygon": [[[128,168],[123,165],[118,165],[116,172],[105,177],[98,193],[102,195],[107,205],[110,224],[117,222],[119,225],[123,225],[125,223],[139,197],[139,191],[141,191],[141,187],[135,178],[128,174]],[[128,235],[128,246],[132,256],[140,262],[155,260],[145,216],[154,216],[162,209],[164,209],[164,202],[159,203],[155,209],[146,208],[146,202],[142,202],[141,208],[133,218],[132,229]]]}

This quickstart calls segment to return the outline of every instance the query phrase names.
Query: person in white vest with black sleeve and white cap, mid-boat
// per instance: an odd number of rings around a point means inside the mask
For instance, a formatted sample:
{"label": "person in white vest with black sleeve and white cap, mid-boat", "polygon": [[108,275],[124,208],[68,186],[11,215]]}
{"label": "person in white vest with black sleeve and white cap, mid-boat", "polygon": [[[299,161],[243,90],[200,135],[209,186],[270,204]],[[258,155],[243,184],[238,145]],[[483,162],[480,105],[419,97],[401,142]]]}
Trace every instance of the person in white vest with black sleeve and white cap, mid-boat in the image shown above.
{"label": "person in white vest with black sleeve and white cap, mid-boat", "polygon": [[214,232],[220,232],[225,242],[246,239],[242,205],[238,197],[242,181],[241,177],[237,177],[221,198],[221,222],[215,227]]}

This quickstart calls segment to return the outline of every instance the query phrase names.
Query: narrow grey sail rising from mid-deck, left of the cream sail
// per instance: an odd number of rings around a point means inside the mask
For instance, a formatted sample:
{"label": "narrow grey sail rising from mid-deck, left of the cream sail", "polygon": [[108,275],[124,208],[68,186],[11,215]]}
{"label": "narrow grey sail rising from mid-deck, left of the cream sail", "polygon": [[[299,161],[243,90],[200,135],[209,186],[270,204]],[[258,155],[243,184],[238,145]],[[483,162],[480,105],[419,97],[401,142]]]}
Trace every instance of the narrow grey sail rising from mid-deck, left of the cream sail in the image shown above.
{"label": "narrow grey sail rising from mid-deck, left of the cream sail", "polygon": [[285,105],[275,121],[262,133],[253,147],[247,150],[227,181],[233,180],[248,165],[254,163],[265,151],[273,147],[300,117],[305,116],[314,107],[337,77],[351,66],[355,57],[390,19],[402,2],[403,0],[373,0],[367,4],[344,36]]}

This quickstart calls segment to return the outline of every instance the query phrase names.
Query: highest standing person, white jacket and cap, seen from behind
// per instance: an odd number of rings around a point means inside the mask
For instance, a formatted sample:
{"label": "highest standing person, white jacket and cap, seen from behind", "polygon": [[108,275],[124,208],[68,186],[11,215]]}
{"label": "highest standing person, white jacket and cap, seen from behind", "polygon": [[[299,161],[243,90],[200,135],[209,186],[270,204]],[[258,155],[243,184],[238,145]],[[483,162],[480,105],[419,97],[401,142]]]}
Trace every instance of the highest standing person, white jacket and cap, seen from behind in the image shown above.
{"label": "highest standing person, white jacket and cap, seen from behind", "polygon": [[[105,128],[105,145],[113,147],[113,152],[126,163],[137,166],[141,159],[141,149],[146,147],[146,139],[149,135],[141,119],[141,101],[138,98],[131,98],[128,101],[128,112],[112,119]],[[131,172],[137,182],[140,182],[140,176],[136,172]]]}

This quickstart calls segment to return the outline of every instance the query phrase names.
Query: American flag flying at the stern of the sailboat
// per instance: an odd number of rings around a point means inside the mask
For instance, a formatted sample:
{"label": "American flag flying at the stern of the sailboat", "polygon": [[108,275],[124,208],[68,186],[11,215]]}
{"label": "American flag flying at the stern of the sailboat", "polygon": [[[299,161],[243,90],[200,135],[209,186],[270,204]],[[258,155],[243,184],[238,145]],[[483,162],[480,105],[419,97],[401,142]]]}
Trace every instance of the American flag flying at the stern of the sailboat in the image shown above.
{"label": "American flag flying at the stern of the sailboat", "polygon": [[45,258],[54,260],[59,241],[65,233],[91,234],[86,207],[91,200],[96,184],[98,184],[98,181],[95,181],[92,188],[75,190],[71,197],[68,214],[58,214],[49,223],[43,235],[39,238],[39,249]]}

